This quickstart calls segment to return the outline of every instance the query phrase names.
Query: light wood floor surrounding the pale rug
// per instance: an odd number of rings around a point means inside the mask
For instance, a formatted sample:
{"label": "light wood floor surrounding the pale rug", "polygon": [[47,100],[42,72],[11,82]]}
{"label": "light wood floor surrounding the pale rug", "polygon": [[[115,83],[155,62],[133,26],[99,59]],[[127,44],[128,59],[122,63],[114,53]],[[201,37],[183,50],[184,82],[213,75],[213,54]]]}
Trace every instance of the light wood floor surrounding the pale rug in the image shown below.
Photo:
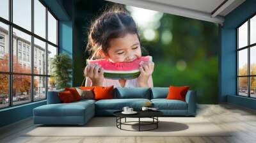
{"label": "light wood floor surrounding the pale rug", "polygon": [[[0,128],[0,142],[68,142],[68,143],[161,143],[161,142],[256,142],[256,111],[230,104],[198,105],[197,117],[204,117],[223,130],[234,130],[228,137],[23,137],[34,128],[31,118]],[[204,130],[204,128],[202,128]],[[111,131],[109,131],[111,132]]]}

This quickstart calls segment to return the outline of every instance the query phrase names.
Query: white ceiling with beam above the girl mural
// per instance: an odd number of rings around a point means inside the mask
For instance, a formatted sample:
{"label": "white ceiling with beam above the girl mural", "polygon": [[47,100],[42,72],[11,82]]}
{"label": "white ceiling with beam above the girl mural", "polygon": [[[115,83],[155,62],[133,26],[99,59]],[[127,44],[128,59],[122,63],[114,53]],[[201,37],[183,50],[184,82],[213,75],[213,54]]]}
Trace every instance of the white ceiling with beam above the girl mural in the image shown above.
{"label": "white ceiling with beam above the girl mural", "polygon": [[[245,0],[106,0],[148,10],[223,24],[225,15]],[[223,3],[223,4],[222,4]],[[222,5],[221,5],[222,4]],[[220,6],[221,5],[221,6]],[[219,6],[219,8],[218,8]]]}

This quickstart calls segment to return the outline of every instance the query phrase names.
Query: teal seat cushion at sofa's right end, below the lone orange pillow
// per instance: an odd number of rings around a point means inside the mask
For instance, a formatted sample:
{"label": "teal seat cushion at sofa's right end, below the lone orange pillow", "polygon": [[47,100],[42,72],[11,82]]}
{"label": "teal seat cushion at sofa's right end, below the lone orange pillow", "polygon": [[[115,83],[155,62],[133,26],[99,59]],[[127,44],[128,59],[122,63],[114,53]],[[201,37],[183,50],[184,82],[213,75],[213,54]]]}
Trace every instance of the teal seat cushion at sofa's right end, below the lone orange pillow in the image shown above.
{"label": "teal seat cushion at sofa's right end, below the lone orange pillow", "polygon": [[181,100],[152,99],[154,107],[159,110],[187,110],[188,104]]}

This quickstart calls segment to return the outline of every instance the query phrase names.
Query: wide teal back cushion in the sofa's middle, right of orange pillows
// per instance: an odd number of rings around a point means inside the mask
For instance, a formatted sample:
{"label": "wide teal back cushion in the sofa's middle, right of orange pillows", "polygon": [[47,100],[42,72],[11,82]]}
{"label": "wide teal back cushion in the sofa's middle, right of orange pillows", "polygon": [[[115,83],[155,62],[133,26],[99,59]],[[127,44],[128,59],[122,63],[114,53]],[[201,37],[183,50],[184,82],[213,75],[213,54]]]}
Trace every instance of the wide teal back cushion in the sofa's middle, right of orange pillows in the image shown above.
{"label": "wide teal back cushion in the sofa's middle, right of orange pillows", "polygon": [[145,98],[150,99],[150,88],[148,87],[116,87],[114,98]]}

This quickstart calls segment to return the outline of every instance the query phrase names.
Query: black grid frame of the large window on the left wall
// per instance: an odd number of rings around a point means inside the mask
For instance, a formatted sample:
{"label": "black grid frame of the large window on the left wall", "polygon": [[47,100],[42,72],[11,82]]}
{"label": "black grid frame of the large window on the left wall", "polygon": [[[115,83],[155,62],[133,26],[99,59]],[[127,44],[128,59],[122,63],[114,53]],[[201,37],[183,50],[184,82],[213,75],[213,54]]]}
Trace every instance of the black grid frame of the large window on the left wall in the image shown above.
{"label": "black grid frame of the large window on the left wall", "polygon": [[[49,77],[51,77],[51,75],[48,74],[48,70],[45,71],[45,73],[34,73],[34,68],[35,68],[35,65],[34,65],[34,38],[37,38],[38,40],[41,40],[41,41],[44,41],[45,42],[45,59],[46,59],[46,67],[48,65],[48,44],[49,45],[52,45],[53,47],[56,47],[57,49],[57,55],[59,54],[60,52],[60,47],[59,47],[59,39],[58,39],[58,34],[59,34],[59,27],[58,27],[58,24],[59,24],[59,19],[56,17],[56,15],[54,15],[54,13],[51,11],[50,8],[48,8],[46,6],[46,4],[44,3],[44,1],[42,0],[38,0],[43,6],[45,6],[45,38],[39,36],[38,34],[35,34],[34,32],[34,15],[35,15],[35,11],[34,11],[34,1],[35,0],[31,0],[31,31],[13,23],[13,0],[9,0],[8,1],[8,6],[9,6],[9,10],[8,10],[8,20],[4,19],[3,17],[0,17],[0,22],[2,22],[3,24],[6,24],[8,25],[8,46],[7,48],[9,49],[9,70],[8,72],[2,72],[0,71],[0,74],[3,74],[3,75],[8,75],[8,98],[9,98],[9,103],[8,103],[8,106],[6,107],[0,107],[0,110],[1,109],[7,109],[7,108],[10,108],[10,107],[15,107],[15,106],[19,106],[19,105],[24,105],[24,104],[28,104],[28,103],[33,103],[33,102],[40,102],[42,100],[47,100],[47,91],[48,91],[48,80],[49,80]],[[54,19],[56,19],[56,44],[52,43],[51,41],[48,40],[48,11],[49,13],[51,13],[51,15],[54,17]],[[17,72],[13,72],[13,28],[19,30],[19,31],[22,31],[23,33],[26,33],[26,34],[29,34],[31,36],[31,54],[29,54],[29,61],[31,61],[31,72],[30,73],[17,73]],[[18,41],[17,41],[18,42]],[[17,43],[18,45],[18,43]],[[19,47],[16,47],[17,48],[17,52],[19,51]],[[23,44],[21,45],[21,50],[20,52],[23,54]],[[27,50],[26,50],[26,47],[25,47],[25,51],[24,53],[26,53]],[[30,52],[30,51],[29,51]],[[17,57],[19,58],[19,57]],[[23,57],[22,57],[23,58]],[[27,61],[27,60],[26,60]],[[30,101],[28,100],[28,102],[26,103],[20,103],[20,104],[17,104],[17,105],[13,105],[13,75],[29,75],[30,78],[31,78],[31,86],[30,86],[30,96],[31,96],[31,99]],[[35,97],[35,94],[34,94],[34,79],[35,77],[42,77],[44,78],[45,77],[45,98],[44,99],[40,99],[40,100],[35,100],[34,97]]]}

